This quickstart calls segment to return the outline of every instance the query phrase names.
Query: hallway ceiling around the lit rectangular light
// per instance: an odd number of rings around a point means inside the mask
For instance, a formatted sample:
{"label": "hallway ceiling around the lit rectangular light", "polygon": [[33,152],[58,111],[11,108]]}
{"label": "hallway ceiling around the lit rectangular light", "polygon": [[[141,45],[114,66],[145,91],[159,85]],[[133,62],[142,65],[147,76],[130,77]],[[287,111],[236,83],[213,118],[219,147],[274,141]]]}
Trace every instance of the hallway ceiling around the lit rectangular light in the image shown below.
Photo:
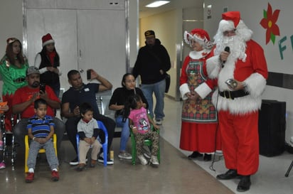
{"label": "hallway ceiling around the lit rectangular light", "polygon": [[139,0],[139,18],[145,18],[155,14],[161,14],[174,9],[184,9],[188,7],[203,8],[203,0],[171,0],[169,4],[157,8],[147,8],[146,5],[155,0]]}

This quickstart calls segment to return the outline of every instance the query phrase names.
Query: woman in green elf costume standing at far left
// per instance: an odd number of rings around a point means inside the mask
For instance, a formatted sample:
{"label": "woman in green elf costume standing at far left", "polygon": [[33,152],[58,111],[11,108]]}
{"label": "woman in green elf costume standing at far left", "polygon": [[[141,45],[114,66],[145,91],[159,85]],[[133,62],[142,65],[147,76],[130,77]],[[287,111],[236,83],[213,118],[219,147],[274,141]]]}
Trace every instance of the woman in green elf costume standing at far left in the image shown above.
{"label": "woman in green elf costume standing at far left", "polygon": [[9,111],[5,112],[5,129],[6,131],[11,131],[12,108],[10,106],[14,92],[18,88],[27,85],[26,70],[28,69],[28,61],[23,56],[21,41],[17,38],[8,38],[6,42],[6,54],[0,62],[0,75],[3,81],[3,101],[9,105]]}

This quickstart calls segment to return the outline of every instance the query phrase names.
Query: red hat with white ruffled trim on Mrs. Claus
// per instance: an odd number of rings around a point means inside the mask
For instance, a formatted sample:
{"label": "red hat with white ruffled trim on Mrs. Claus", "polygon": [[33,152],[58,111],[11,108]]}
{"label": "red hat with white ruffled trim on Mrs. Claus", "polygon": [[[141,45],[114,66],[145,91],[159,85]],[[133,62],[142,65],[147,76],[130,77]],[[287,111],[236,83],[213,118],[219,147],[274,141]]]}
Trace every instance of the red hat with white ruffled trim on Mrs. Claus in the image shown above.
{"label": "red hat with white ruffled trim on Mrs. Claus", "polygon": [[184,32],[184,41],[190,45],[191,40],[200,43],[203,45],[203,48],[211,48],[212,46],[210,36],[208,36],[208,33],[201,28],[195,28],[190,33],[188,33],[188,31]]}

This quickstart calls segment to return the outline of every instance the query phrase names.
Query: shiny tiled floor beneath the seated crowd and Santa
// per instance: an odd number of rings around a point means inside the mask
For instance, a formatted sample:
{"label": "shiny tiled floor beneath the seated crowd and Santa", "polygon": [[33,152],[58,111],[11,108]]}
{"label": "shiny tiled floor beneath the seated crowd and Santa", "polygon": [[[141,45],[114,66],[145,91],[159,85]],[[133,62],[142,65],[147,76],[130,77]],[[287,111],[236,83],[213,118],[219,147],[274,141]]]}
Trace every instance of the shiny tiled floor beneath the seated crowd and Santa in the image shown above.
{"label": "shiny tiled floor beneath the seated crowd and Santa", "polygon": [[[119,138],[113,141],[114,165],[87,168],[77,172],[68,162],[75,157],[69,141],[63,141],[59,156],[60,180],[53,183],[50,171],[43,155],[38,159],[35,181],[24,182],[23,152],[18,151],[16,168],[13,171],[8,162],[7,168],[0,170],[0,193],[174,193],[174,194],[229,194],[237,193],[238,180],[219,181],[218,173],[226,171],[223,157],[216,156],[213,164],[215,171],[210,169],[211,163],[201,158],[191,161],[186,158],[189,152],[179,149],[181,125],[181,102],[166,98],[164,124],[161,126],[161,165],[159,168],[132,166],[130,161],[119,160]],[[128,148],[130,147],[130,142]],[[292,154],[267,158],[260,156],[260,168],[252,176],[252,186],[247,194],[282,194],[292,193],[293,170],[289,177],[284,174],[293,159]]]}

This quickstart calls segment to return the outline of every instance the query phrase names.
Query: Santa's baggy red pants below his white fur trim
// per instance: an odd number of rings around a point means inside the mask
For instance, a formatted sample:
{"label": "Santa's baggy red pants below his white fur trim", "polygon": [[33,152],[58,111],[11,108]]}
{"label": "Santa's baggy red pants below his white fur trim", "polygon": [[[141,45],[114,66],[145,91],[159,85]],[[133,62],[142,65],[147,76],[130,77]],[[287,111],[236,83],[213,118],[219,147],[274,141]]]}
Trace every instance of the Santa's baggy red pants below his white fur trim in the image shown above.
{"label": "Santa's baggy red pants below his white fur trim", "polygon": [[218,114],[225,166],[247,176],[257,172],[259,165],[258,112]]}

